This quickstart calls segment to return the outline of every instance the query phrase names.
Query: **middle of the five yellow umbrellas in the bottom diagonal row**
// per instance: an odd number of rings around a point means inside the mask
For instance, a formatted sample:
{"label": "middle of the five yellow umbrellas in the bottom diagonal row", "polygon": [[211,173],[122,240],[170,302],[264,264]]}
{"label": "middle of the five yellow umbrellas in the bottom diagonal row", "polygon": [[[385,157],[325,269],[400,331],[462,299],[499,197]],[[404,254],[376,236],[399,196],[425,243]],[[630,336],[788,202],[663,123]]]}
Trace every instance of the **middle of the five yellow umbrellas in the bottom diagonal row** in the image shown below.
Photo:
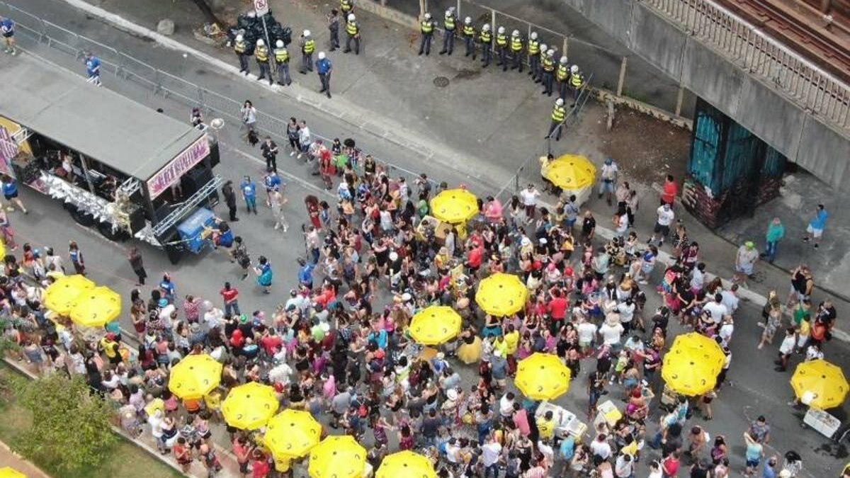
{"label": "middle of the five yellow umbrellas in the bottom diagonal row", "polygon": [[263,441],[275,457],[301,458],[321,440],[321,424],[309,412],[287,409],[266,424]]}

